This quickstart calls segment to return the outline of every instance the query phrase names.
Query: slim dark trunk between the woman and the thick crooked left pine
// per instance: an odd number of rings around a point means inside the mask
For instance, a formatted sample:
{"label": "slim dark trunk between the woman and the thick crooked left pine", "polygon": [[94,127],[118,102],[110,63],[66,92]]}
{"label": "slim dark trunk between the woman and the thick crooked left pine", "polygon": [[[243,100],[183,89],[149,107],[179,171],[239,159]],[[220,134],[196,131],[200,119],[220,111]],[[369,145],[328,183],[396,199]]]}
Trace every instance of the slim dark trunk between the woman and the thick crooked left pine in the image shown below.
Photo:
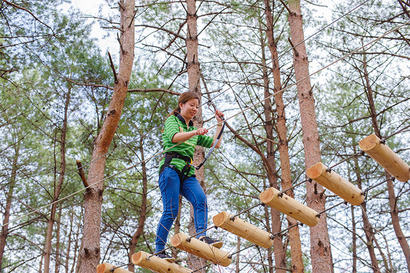
{"label": "slim dark trunk between the woman and the thick crooked left pine", "polygon": [[[144,149],[143,149],[144,138],[140,139],[140,153],[141,160],[144,161]],[[145,220],[147,219],[147,167],[145,162],[142,164],[142,200],[141,200],[141,211],[140,211],[140,220],[138,221],[138,228],[134,235],[132,235],[131,242],[129,244],[128,258],[131,261],[132,255],[135,253],[135,247],[140,239],[142,233],[144,232]],[[128,264],[128,271],[134,272],[134,264]]]}

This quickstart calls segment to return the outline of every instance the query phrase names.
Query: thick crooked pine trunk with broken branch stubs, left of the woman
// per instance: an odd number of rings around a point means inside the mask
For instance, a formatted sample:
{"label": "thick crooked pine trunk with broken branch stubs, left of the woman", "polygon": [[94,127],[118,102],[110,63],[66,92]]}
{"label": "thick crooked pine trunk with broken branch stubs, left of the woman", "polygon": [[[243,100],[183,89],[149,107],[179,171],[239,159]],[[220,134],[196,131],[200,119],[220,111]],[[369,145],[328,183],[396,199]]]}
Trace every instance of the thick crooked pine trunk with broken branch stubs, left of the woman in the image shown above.
{"label": "thick crooked pine trunk with broken branch stubs, left of the woman", "polygon": [[[114,137],[124,107],[134,61],[135,0],[120,0],[120,67],[118,80],[100,133],[95,138],[87,181],[90,185],[104,178],[104,156]],[[101,158],[100,158],[101,157]],[[96,160],[97,158],[100,158]],[[103,202],[103,183],[89,187],[84,194],[84,232],[80,272],[95,272],[100,262],[100,223]]]}

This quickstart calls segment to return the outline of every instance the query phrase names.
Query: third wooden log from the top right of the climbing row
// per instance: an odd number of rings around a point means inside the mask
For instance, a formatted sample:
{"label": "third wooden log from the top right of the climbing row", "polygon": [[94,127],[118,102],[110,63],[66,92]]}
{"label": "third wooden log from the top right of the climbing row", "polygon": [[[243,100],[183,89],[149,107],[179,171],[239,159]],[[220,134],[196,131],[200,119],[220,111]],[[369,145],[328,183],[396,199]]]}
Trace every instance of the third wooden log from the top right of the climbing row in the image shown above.
{"label": "third wooden log from the top right of the climbing row", "polygon": [[280,192],[276,190],[276,188],[270,187],[262,192],[259,195],[259,198],[264,204],[273,207],[281,213],[295,218],[308,226],[315,226],[318,224],[319,217],[317,217],[318,213],[315,209],[305,206],[286,194],[279,197],[279,193]]}

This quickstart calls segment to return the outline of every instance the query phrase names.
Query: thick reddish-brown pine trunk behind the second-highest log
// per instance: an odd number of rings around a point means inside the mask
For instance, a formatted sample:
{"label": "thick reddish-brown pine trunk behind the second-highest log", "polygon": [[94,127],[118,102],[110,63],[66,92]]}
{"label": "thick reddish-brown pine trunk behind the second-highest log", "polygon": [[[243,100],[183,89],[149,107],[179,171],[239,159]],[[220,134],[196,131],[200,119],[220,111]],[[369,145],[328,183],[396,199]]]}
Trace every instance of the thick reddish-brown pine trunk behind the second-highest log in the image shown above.
{"label": "thick reddish-brown pine trunk behind the second-highest log", "polygon": [[[290,35],[294,45],[299,46],[294,50],[294,68],[296,80],[309,75],[309,63],[306,54],[302,26],[300,0],[289,1],[289,26]],[[305,166],[310,166],[321,161],[319,133],[316,123],[315,101],[311,90],[310,79],[306,78],[297,84],[301,124],[303,133],[303,147],[305,152]],[[323,187],[316,182],[307,183],[306,203],[309,207],[321,212],[325,209],[325,195]],[[333,272],[329,234],[327,231],[326,215],[322,214],[319,223],[310,227],[310,255],[312,272]]]}

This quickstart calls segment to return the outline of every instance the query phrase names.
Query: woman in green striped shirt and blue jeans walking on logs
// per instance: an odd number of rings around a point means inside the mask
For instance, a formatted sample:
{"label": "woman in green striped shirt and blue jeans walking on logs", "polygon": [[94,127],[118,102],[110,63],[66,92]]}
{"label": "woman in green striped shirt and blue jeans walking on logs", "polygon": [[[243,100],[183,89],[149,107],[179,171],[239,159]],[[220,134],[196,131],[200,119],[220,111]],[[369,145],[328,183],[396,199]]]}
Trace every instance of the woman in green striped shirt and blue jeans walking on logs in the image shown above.
{"label": "woman in green striped shirt and blue jeans walking on logs", "polygon": [[[191,119],[199,109],[199,97],[193,92],[184,92],[180,95],[177,109],[173,110],[165,121],[165,130],[162,134],[164,142],[164,157],[160,161],[159,185],[162,195],[164,212],[160,219],[155,238],[155,253],[158,257],[167,261],[174,258],[165,253],[165,243],[169,230],[177,217],[179,209],[179,195],[184,196],[193,206],[194,223],[197,230],[197,238],[216,247],[221,247],[222,242],[206,236],[208,206],[206,196],[195,178],[195,168],[191,167],[195,146],[200,145],[210,148],[221,132],[222,123],[218,124],[214,138],[205,134],[205,128],[193,127]],[[215,111],[215,117],[221,122],[224,115],[221,111]],[[221,145],[221,139],[216,148]]]}

